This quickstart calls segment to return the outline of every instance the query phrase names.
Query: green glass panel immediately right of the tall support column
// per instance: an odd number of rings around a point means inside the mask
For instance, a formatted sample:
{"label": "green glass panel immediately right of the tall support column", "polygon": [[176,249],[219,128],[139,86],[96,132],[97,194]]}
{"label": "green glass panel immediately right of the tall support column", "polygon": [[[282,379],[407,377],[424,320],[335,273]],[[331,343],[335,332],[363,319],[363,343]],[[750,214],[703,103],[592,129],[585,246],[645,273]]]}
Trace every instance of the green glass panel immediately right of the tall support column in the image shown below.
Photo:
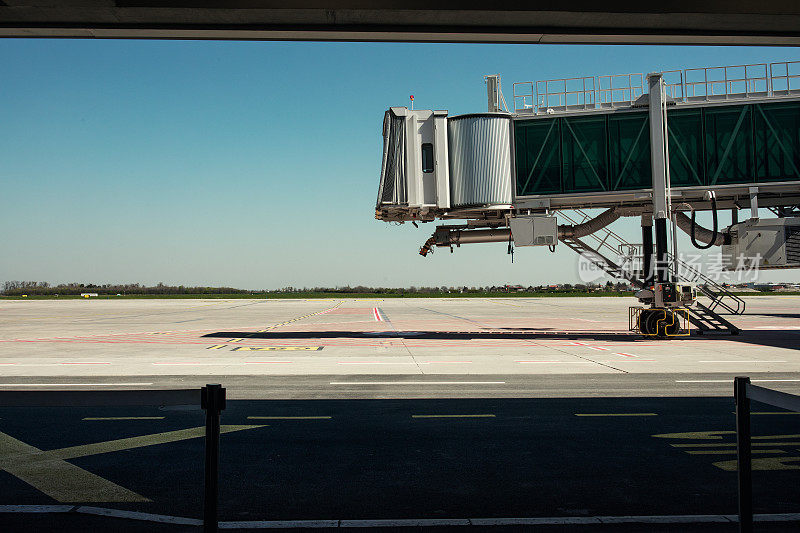
{"label": "green glass panel immediately right of the tall support column", "polygon": [[699,108],[667,110],[667,132],[670,184],[673,187],[706,185],[703,111]]}

